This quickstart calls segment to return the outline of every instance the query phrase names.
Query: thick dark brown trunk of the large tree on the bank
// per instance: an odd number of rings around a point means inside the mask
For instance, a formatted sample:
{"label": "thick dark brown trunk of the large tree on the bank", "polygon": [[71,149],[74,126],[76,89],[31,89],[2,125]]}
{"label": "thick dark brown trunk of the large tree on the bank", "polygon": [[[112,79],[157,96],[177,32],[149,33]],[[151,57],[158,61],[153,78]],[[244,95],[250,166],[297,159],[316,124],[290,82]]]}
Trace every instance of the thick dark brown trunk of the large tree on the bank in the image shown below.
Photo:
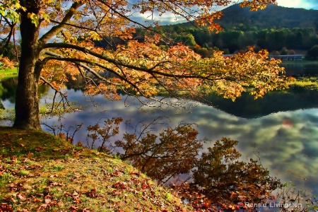
{"label": "thick dark brown trunk of the large tree on the bank", "polygon": [[28,1],[27,8],[27,11],[21,12],[21,57],[16,90],[16,119],[13,126],[20,129],[40,129],[40,109],[37,96],[40,70],[36,70],[40,54],[37,44],[39,27],[28,18],[28,13],[38,14],[39,10],[35,1]]}

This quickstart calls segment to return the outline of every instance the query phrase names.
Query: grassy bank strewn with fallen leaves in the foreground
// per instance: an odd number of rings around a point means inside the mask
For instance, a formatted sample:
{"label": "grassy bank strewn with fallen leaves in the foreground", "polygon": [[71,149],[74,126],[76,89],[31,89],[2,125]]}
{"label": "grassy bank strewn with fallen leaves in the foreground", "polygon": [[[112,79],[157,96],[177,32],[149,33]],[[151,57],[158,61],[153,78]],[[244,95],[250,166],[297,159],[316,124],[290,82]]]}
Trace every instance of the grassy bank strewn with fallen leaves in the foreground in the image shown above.
{"label": "grassy bank strewn with fallen leaves in the foreground", "polygon": [[0,126],[0,211],[185,211],[131,165],[42,131]]}

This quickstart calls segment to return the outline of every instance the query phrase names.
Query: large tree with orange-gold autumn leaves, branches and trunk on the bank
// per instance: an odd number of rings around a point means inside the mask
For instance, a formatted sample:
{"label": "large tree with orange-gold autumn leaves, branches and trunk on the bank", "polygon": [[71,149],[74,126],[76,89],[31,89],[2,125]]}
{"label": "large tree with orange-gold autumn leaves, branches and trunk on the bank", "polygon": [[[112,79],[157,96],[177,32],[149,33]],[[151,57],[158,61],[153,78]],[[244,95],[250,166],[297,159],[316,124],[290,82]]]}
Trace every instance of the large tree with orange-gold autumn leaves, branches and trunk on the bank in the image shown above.
{"label": "large tree with orange-gold autumn leaves, branches and trunk on the bank", "polygon": [[[261,97],[269,90],[285,88],[279,61],[252,47],[245,54],[224,58],[222,52],[202,59],[182,43],[175,45],[160,33],[160,17],[172,14],[195,26],[221,30],[214,20],[222,13],[215,6],[230,0],[189,1],[0,1],[1,52],[20,33],[19,83],[16,120],[19,128],[40,128],[37,83],[60,91],[70,78],[81,76],[86,92],[118,100],[118,90],[136,98],[163,103],[165,94],[187,98],[214,91],[235,100],[243,91]],[[251,10],[274,0],[243,1]],[[147,16],[141,20],[140,16]],[[158,16],[158,17],[157,17]],[[137,32],[143,32],[139,35]],[[105,45],[98,47],[98,42]],[[161,48],[159,42],[169,47]],[[30,54],[32,53],[32,54]],[[4,60],[4,59],[1,59]],[[26,89],[25,89],[26,88]]]}

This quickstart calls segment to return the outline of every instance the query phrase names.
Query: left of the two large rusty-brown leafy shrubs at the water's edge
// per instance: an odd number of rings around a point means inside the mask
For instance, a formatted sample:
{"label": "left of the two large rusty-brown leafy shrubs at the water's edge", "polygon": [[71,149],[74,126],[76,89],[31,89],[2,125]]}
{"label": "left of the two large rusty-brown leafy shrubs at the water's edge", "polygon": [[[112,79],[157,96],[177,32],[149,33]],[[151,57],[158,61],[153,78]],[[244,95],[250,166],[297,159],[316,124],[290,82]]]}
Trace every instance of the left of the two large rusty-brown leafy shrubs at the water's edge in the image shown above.
{"label": "left of the two large rusty-brown leafy shrubs at the water's edge", "polygon": [[171,177],[188,174],[197,162],[196,156],[202,143],[196,139],[198,131],[191,125],[179,125],[164,129],[160,135],[124,134],[116,141],[116,147],[124,150],[118,153],[122,160],[130,160],[134,167],[146,172],[149,177],[167,182]]}

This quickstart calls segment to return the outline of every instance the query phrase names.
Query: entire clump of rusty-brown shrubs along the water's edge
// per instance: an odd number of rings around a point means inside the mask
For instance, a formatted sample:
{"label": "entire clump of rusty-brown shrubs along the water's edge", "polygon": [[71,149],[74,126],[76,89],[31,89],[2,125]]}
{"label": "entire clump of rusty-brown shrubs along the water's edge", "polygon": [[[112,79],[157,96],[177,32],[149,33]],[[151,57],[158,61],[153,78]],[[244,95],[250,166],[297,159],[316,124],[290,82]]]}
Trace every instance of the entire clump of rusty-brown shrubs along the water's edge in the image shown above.
{"label": "entire clump of rusty-brown shrubs along the water's edge", "polygon": [[264,203],[282,186],[279,179],[269,176],[269,170],[259,160],[239,160],[241,154],[235,148],[238,141],[223,138],[208,148],[208,152],[201,153],[202,142],[207,141],[196,138],[198,131],[193,128],[194,124],[167,127],[156,134],[153,128],[158,124],[156,119],[151,124],[141,124],[132,134],[126,132],[121,140],[105,145],[106,137],[110,139],[119,134],[116,120],[119,119],[107,119],[104,126],[97,124],[95,128],[88,126],[88,140],[101,139],[99,150],[116,153],[159,182],[165,183],[181,174],[191,176],[189,182],[170,184],[175,194],[194,208],[240,209],[239,202]]}

